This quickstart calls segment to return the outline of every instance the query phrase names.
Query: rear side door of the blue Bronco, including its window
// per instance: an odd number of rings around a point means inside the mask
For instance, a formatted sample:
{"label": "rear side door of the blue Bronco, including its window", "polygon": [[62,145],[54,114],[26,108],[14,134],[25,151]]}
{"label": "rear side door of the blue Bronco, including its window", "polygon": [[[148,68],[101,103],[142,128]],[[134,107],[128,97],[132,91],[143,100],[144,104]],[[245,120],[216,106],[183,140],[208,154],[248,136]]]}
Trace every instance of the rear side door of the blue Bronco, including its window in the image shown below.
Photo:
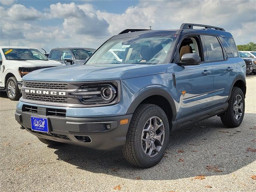
{"label": "rear side door of the blue Bronco, including its window", "polygon": [[204,35],[206,47],[207,62],[212,66],[213,92],[212,104],[218,105],[226,102],[229,96],[230,88],[236,75],[234,62],[229,55],[238,56],[236,53],[224,51],[224,47],[218,36]]}

